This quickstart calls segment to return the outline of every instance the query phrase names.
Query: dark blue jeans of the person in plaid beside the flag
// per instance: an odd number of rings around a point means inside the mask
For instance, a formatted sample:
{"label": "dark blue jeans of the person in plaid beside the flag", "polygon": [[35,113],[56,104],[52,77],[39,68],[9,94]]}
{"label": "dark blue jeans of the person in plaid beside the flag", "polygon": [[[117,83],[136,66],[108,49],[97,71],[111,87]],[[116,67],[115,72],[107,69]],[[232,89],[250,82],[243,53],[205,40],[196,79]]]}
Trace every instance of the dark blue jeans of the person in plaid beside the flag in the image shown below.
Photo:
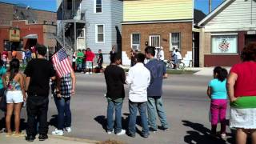
{"label": "dark blue jeans of the person in plaid beside the flag", "polygon": [[54,102],[58,110],[58,130],[71,126],[70,98],[57,98],[54,96]]}

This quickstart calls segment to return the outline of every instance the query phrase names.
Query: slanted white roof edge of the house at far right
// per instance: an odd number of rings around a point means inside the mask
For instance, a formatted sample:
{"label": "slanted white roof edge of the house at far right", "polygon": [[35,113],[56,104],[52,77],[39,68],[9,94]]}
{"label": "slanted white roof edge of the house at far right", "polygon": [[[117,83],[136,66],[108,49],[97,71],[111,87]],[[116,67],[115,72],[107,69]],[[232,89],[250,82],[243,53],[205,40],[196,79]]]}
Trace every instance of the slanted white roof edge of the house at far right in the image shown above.
{"label": "slanted white roof edge of the house at far right", "polygon": [[206,16],[206,18],[203,18],[202,21],[198,22],[198,26],[206,25],[207,22],[209,22],[212,18],[214,18],[217,14],[219,14],[222,10],[224,10],[227,6],[230,6],[232,2],[235,0],[226,0],[222,2],[221,5],[219,5],[215,10],[213,10],[210,14]]}

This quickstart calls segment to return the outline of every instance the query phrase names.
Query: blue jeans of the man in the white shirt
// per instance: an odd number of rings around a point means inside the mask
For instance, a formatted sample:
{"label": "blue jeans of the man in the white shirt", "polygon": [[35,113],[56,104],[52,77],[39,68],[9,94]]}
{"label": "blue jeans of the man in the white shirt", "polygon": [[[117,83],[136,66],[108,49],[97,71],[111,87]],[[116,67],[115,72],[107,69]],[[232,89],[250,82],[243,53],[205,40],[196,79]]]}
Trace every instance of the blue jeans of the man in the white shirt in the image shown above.
{"label": "blue jeans of the man in the white shirt", "polygon": [[129,101],[129,111],[130,111],[129,126],[128,126],[129,133],[135,134],[136,132],[137,109],[141,116],[142,135],[149,134],[149,126],[146,118],[146,102],[131,102],[131,101]]}

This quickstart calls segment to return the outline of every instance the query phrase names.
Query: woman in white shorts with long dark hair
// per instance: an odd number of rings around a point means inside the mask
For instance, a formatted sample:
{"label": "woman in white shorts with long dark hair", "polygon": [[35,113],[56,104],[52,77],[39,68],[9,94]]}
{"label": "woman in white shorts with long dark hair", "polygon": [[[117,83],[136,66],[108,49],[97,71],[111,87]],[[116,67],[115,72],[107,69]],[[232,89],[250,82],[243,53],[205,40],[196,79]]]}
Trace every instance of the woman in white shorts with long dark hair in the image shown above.
{"label": "woman in white shorts with long dark hair", "polygon": [[[24,77],[19,70],[19,60],[14,58],[10,61],[10,69],[6,73],[6,130],[8,136],[24,136],[19,132],[20,113],[22,110],[22,102],[26,101],[24,91]],[[12,133],[10,128],[10,118],[14,111],[15,132]]]}

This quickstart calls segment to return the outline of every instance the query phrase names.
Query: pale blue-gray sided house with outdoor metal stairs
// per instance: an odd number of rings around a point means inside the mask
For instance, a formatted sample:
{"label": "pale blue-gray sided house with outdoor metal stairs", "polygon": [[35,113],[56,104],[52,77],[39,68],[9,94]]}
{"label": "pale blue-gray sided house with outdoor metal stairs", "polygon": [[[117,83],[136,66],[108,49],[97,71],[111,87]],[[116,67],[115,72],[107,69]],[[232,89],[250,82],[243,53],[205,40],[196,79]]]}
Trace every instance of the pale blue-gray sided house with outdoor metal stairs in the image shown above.
{"label": "pale blue-gray sided house with outdoor metal stairs", "polygon": [[122,0],[57,0],[58,39],[72,50],[102,49],[109,61],[112,46],[122,52]]}

